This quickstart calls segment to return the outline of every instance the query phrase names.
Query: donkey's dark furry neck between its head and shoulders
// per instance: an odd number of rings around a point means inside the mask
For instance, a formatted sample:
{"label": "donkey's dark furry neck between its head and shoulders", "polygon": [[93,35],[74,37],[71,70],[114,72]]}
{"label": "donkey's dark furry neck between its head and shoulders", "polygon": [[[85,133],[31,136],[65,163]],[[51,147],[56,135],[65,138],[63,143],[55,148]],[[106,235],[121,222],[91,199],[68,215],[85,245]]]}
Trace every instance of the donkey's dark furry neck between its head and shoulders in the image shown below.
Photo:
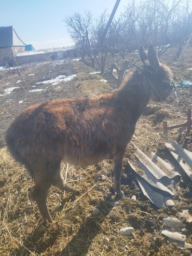
{"label": "donkey's dark furry neck between its head and shoulders", "polygon": [[134,123],[144,111],[150,99],[150,92],[143,85],[143,72],[135,71],[116,91],[117,100],[123,105],[125,115],[132,117]]}

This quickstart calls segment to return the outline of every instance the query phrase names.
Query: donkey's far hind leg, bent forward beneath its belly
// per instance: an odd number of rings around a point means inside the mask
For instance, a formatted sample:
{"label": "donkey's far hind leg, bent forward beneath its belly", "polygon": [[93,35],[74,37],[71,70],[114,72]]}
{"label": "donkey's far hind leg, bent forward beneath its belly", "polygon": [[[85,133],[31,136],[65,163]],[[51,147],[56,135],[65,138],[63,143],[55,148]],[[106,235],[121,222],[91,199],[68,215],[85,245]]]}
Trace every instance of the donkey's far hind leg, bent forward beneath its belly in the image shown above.
{"label": "donkey's far hind leg, bent forward beneath its belly", "polygon": [[60,163],[54,166],[54,172],[52,173],[52,179],[51,183],[53,186],[56,186],[60,188],[61,190],[65,190],[67,192],[73,192],[75,194],[79,194],[80,191],[77,190],[76,188],[68,185],[65,181],[64,178],[61,174],[61,168],[60,168]]}

